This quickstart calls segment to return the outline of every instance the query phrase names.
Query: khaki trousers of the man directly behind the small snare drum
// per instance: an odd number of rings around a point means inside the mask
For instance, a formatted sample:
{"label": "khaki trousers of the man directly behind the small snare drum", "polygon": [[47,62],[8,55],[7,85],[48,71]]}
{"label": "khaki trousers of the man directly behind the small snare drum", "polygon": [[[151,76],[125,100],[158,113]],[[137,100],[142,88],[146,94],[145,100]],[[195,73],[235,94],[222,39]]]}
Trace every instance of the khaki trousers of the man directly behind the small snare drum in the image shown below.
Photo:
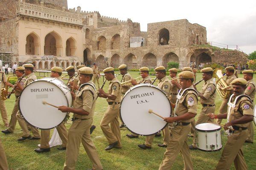
{"label": "khaki trousers of the man directly behind the small snare drum", "polygon": [[[212,107],[203,107],[202,108],[202,111],[201,113],[199,114],[198,116],[198,120],[196,121],[195,123],[195,126],[196,125],[199,125],[201,123],[207,123],[207,122],[214,122],[213,119],[210,119],[206,114],[208,113],[214,113],[215,112],[215,108],[216,106],[212,106]],[[195,128],[195,127],[194,127]],[[194,133],[194,137],[193,137],[193,147],[196,147],[195,144],[197,142],[197,139],[196,139],[196,135]]]}

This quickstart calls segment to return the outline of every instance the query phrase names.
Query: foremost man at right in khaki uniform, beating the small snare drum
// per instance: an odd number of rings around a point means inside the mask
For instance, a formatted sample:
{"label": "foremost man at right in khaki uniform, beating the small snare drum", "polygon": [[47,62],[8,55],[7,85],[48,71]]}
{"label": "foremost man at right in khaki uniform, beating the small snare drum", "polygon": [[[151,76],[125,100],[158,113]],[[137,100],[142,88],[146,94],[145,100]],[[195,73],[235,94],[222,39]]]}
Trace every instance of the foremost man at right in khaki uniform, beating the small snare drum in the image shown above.
{"label": "foremost man at right in khaki uniform, beating the small snare drum", "polygon": [[[245,95],[240,96],[244,94],[244,90],[246,89],[247,82],[245,79],[237,78],[230,84],[233,85],[234,94],[231,102],[235,104],[235,107],[231,107],[230,113],[209,114],[211,119],[228,119],[224,125],[225,130],[228,130],[230,126],[233,128],[233,130],[230,130],[231,135],[227,139],[227,143],[215,170],[228,170],[233,162],[236,170],[247,170],[248,167],[244,160],[242,146],[248,137],[247,127],[253,120],[253,103],[250,97]],[[235,101],[236,103],[234,103]],[[228,115],[229,117],[227,118]]]}

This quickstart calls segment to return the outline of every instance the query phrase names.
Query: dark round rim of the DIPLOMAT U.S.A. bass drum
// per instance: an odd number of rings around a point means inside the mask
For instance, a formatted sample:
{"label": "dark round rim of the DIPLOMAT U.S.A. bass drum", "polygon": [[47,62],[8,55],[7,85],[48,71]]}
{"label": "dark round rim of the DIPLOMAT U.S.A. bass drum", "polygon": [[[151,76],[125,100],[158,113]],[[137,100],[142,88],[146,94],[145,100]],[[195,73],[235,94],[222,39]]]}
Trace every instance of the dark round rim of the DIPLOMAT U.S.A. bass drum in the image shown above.
{"label": "dark round rim of the DIPLOMAT U.S.A. bass drum", "polygon": [[[134,87],[133,87],[133,89],[136,87],[136,88],[140,88],[140,87],[143,87],[143,86],[149,86],[149,87],[153,87],[153,88],[157,88],[158,90],[160,90],[165,96],[166,96],[166,98],[168,99],[168,101],[169,101],[169,98],[168,98],[168,96],[160,89],[160,88],[158,88],[157,86],[154,86],[154,85],[151,85],[151,84],[140,84],[141,86],[139,86],[139,85],[135,85]],[[131,88],[129,89],[130,91],[131,91]],[[127,91],[128,92],[128,91]],[[128,93],[125,93],[125,95],[124,95],[124,97],[122,98],[122,101],[123,101],[123,99],[125,98],[125,96],[126,96],[126,94],[128,94]],[[120,113],[120,119],[122,120],[122,122],[124,122],[123,121],[123,119],[122,119],[122,115],[121,115],[121,106],[122,106],[122,101],[121,101],[121,103],[120,103],[120,107],[119,107],[119,113]],[[171,114],[170,114],[170,116],[172,115],[172,105],[171,105],[171,103],[169,102],[169,105],[170,105],[170,108],[171,108]],[[166,125],[161,129],[161,130],[159,130],[158,132],[161,132],[167,125],[168,125],[169,123],[167,123],[166,122]],[[125,123],[124,123],[124,125],[125,125]],[[131,129],[129,129],[126,125],[125,125],[125,127],[131,132],[131,133],[134,133],[134,134],[136,134],[136,135],[140,135],[140,136],[152,136],[152,135],[155,135],[155,134],[157,134],[158,132],[156,132],[156,133],[152,133],[152,134],[148,134],[148,135],[142,135],[142,134],[138,134],[138,133],[135,133],[135,132],[133,132]]]}

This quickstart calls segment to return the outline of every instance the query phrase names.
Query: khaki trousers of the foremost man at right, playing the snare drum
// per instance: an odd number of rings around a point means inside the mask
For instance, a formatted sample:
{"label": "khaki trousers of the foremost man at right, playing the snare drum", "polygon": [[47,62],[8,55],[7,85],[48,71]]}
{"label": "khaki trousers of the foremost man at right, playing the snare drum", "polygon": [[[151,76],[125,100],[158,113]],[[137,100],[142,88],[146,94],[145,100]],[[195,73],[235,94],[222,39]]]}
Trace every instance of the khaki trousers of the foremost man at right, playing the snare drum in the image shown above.
{"label": "khaki trousers of the foremost man at right, playing the snare drum", "polygon": [[233,162],[236,170],[248,169],[242,150],[247,136],[248,130],[236,130],[231,136],[228,137],[227,143],[221,154],[221,159],[219,160],[215,170],[229,170]]}

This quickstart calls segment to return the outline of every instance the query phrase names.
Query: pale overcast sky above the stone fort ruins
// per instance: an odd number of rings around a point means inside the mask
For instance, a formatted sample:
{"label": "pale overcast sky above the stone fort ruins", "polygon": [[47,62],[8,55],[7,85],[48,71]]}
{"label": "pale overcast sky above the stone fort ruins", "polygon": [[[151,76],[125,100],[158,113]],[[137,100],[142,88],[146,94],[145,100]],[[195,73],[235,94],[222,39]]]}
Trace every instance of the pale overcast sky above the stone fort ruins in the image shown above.
{"label": "pale overcast sky above the stone fort ruins", "polygon": [[256,51],[256,0],[68,0],[68,7],[99,11],[119,20],[147,23],[187,19],[207,28],[207,41]]}

